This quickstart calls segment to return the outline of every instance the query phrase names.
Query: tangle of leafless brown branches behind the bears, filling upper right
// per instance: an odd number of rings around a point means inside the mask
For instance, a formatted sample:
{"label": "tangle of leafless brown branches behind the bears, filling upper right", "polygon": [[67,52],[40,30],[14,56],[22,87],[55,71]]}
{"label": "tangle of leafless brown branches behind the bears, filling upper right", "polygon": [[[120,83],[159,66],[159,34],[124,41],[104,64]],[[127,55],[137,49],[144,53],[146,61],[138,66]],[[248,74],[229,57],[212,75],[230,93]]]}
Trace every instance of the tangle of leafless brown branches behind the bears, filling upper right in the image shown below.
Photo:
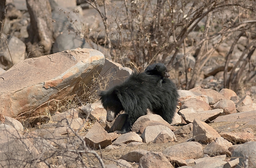
{"label": "tangle of leafless brown branches behind the bears, filling upper right", "polygon": [[[89,1],[89,4],[98,10],[96,1]],[[107,27],[106,39],[110,39],[105,41],[109,44],[109,49],[114,51],[111,52],[114,61],[128,67],[132,63],[139,70],[143,70],[151,62],[165,63],[171,70],[185,61],[182,71],[186,75],[186,89],[191,89],[218,46],[233,41],[230,51],[224,56],[224,81],[229,82],[224,86],[232,89],[237,87],[231,85],[237,83],[240,76],[238,74],[235,81],[234,76],[230,76],[232,80],[227,80],[227,65],[239,36],[255,36],[255,1],[124,0],[122,5],[112,4],[114,2],[106,5],[106,1],[103,3],[105,11],[106,7],[112,11],[101,14],[101,17],[105,28]],[[110,18],[114,20],[112,27],[116,28],[112,28],[112,31],[105,22]],[[246,51],[249,47],[246,46]],[[248,52],[249,50],[246,54]],[[183,56],[177,58],[178,54]],[[187,66],[188,56],[196,58],[194,67]],[[249,60],[250,57],[247,58]],[[236,66],[241,67],[240,74],[245,71],[241,64],[240,61]],[[188,68],[192,69],[190,77],[187,76]]]}

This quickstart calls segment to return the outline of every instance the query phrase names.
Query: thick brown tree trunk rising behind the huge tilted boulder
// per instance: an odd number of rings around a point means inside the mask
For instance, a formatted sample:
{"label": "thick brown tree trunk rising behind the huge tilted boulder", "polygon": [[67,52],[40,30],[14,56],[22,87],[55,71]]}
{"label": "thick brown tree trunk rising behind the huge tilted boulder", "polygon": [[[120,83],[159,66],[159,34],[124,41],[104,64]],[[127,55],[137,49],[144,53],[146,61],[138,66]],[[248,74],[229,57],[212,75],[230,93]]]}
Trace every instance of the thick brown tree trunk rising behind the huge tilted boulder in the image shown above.
{"label": "thick brown tree trunk rising behind the huge tilted boulder", "polygon": [[27,0],[30,13],[27,51],[29,57],[50,54],[53,41],[52,10],[48,0]]}

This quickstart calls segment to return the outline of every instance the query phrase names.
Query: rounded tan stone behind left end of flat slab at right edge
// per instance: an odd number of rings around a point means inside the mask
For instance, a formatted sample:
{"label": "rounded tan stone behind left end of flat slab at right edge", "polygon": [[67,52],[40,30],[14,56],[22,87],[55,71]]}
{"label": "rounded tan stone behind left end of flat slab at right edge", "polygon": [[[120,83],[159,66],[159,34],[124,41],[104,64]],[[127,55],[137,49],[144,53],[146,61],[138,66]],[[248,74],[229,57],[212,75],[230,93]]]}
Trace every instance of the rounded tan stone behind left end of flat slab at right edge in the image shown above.
{"label": "rounded tan stone behind left end of flat slab at right edge", "polygon": [[223,109],[223,113],[220,115],[236,113],[235,103],[232,100],[221,99],[220,101],[215,103],[213,106],[214,106],[213,109],[216,109],[216,108]]}

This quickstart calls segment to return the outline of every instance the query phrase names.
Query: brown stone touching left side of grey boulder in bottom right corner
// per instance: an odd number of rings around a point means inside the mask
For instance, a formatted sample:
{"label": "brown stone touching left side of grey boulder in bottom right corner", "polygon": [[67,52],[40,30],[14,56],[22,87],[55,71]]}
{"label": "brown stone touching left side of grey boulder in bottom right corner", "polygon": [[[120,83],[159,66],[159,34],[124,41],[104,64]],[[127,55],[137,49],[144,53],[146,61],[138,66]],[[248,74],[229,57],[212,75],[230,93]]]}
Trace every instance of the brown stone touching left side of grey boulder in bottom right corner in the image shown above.
{"label": "brown stone touching left side of grey boulder in bottom right corner", "polygon": [[217,156],[217,155],[226,155],[228,157],[231,156],[231,152],[228,149],[219,145],[216,142],[210,142],[210,144],[208,144],[204,148],[203,152],[204,154],[207,154],[209,156]]}

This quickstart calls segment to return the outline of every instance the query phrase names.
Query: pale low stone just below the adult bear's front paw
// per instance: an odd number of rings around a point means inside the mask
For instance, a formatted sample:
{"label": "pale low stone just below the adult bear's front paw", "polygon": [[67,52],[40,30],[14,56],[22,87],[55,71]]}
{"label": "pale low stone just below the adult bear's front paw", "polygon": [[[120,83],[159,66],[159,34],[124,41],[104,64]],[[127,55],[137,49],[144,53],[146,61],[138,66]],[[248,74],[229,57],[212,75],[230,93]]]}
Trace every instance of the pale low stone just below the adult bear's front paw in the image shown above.
{"label": "pale low stone just below the adult bear's front paw", "polygon": [[134,132],[129,132],[129,133],[122,134],[121,136],[119,136],[113,142],[113,144],[117,144],[117,143],[128,144],[130,142],[142,142],[142,138],[140,138],[140,136]]}

